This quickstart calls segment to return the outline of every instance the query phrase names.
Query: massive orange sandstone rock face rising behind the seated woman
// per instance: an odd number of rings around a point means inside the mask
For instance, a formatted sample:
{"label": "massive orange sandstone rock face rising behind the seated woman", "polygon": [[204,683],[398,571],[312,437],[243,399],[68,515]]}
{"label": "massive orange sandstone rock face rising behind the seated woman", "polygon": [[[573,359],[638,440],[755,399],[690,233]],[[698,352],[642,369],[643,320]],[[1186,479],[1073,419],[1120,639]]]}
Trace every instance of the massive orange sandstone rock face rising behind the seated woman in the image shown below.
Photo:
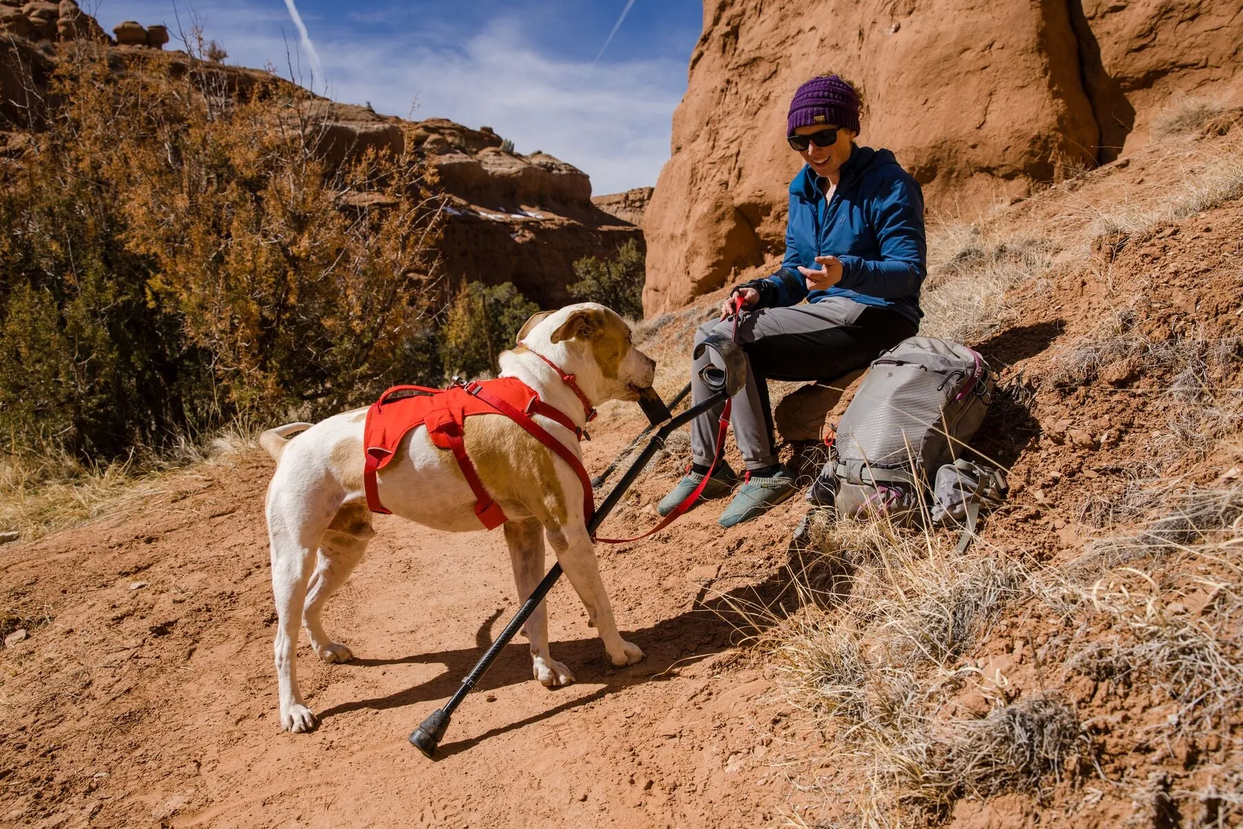
{"label": "massive orange sandstone rock face rising behind the seated woman", "polygon": [[[1175,96],[1243,97],[1241,0],[706,0],[644,219],[649,313],[783,249],[789,97],[837,70],[930,208],[972,211],[1112,160]],[[747,273],[752,276],[753,273]]]}

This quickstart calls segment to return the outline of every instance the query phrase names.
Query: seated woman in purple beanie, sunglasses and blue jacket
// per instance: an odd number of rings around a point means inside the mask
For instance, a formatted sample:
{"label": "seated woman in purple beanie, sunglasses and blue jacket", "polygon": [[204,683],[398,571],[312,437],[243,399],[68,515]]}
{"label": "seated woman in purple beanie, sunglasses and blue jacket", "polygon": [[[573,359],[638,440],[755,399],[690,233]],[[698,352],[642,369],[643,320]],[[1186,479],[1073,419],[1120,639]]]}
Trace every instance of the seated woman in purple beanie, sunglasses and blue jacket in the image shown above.
{"label": "seated woman in purple beanie, sunglasses and blue jacket", "polygon": [[[695,337],[699,344],[713,329],[728,333],[735,302],[747,312],[738,321],[747,384],[732,410],[746,476],[721,515],[722,527],[763,515],[798,488],[777,457],[767,379],[842,377],[914,336],[924,316],[924,196],[891,152],[854,143],[860,106],[855,86],[837,75],[814,77],[794,93],[786,134],[805,164],[789,185],[781,270],[737,286],[721,306],[721,319]],[[691,369],[696,403],[710,395],[697,374],[706,359]],[[660,515],[672,512],[704,480],[720,416],[716,409],[692,424],[691,467],[660,502]],[[737,482],[722,462],[700,500],[723,497]]]}

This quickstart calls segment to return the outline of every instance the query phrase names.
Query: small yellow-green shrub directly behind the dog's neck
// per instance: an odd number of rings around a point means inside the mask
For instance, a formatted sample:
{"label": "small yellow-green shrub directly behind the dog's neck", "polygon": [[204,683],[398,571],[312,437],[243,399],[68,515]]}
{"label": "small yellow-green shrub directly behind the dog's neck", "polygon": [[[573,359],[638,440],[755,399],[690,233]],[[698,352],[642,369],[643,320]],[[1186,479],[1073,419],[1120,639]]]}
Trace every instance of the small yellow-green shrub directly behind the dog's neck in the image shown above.
{"label": "small yellow-green shrub directly behind the dog's neck", "polygon": [[466,378],[495,374],[501,352],[513,347],[522,323],[538,311],[539,306],[510,282],[492,287],[480,282],[464,285],[449,303],[440,327],[445,374]]}

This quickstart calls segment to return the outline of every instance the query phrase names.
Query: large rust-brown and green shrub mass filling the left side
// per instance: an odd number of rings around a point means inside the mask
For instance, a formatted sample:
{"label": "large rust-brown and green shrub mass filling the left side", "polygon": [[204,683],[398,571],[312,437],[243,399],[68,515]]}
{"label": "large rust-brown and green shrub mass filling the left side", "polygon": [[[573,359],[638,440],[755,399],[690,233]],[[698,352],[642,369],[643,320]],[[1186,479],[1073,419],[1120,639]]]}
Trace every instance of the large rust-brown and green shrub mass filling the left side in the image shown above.
{"label": "large rust-brown and green shrub mass filling the left side", "polygon": [[160,53],[109,67],[82,47],[48,99],[48,128],[0,168],[6,444],[103,459],[434,370],[408,348],[439,226],[413,154],[332,167],[305,92],[230,96],[219,70]]}

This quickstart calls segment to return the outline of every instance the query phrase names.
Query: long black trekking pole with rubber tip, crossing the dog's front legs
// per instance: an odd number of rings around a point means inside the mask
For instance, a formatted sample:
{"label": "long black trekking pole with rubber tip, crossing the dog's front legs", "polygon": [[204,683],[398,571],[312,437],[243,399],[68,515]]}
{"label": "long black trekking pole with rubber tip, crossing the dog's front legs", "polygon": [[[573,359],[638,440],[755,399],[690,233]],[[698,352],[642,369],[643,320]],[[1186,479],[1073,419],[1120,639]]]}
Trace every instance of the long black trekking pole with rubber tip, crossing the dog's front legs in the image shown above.
{"label": "long black trekking pole with rubber tip, crossing the dog's front legs", "polygon": [[[648,465],[648,461],[651,460],[651,456],[656,454],[656,450],[665,445],[665,439],[667,439],[670,434],[705,411],[709,411],[713,406],[725,403],[742,388],[742,384],[746,380],[745,360],[742,352],[733,344],[733,341],[723,336],[709,337],[704,343],[696,347],[695,357],[697,358],[701,355],[705,348],[716,352],[717,357],[725,364],[723,368],[720,368],[710,363],[700,372],[700,378],[704,379],[713,394],[706,400],[692,405],[676,418],[671,418],[669,423],[656,430],[656,434],[651,436],[648,445],[643,447],[639,456],[633,464],[630,464],[625,474],[622,475],[622,480],[619,480],[617,486],[609,491],[604,502],[600,503],[599,508],[595,510],[592,518],[587,522],[587,532],[592,537],[595,536],[595,531],[618,505],[626,490],[630,488],[634,480],[639,477],[639,474],[643,471],[643,467]],[[655,394],[653,393],[650,396],[655,396]],[[410,733],[409,740],[415,748],[421,751],[429,758],[435,759],[436,746],[439,746],[440,741],[444,738],[445,730],[449,728],[449,720],[452,717],[454,711],[456,711],[457,706],[462,703],[462,700],[466,698],[466,695],[470,694],[471,689],[474,689],[479,681],[484,679],[484,674],[487,672],[487,669],[492,666],[492,662],[496,661],[496,657],[500,656],[502,650],[505,650],[505,646],[508,645],[510,640],[518,633],[526,623],[527,616],[534,613],[534,609],[539,607],[539,603],[543,602],[543,598],[548,594],[548,590],[552,589],[552,585],[557,583],[558,578],[561,578],[559,562],[552,566],[548,574],[543,577],[543,580],[539,582],[527,600],[522,603],[518,611],[512,619],[510,619],[510,624],[505,625],[505,630],[501,631],[487,651],[480,657],[480,660],[475,664],[475,667],[471,669],[470,674],[466,675],[466,679],[462,680],[457,691],[449,697],[449,702],[446,702],[444,707],[433,711],[431,716],[419,723],[419,727]]]}

